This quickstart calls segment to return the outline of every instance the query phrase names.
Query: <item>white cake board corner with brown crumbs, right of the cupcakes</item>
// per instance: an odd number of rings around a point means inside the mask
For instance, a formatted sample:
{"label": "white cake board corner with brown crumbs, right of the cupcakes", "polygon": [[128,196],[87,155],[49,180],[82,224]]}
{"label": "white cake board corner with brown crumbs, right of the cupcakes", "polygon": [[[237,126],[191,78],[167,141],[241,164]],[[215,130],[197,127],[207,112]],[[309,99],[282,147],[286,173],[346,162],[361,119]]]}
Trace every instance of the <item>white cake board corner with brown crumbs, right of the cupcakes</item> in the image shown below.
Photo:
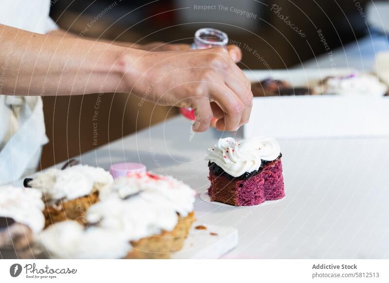
{"label": "white cake board corner with brown crumbs, right of the cupcakes", "polygon": [[[206,229],[196,229],[204,226]],[[195,222],[184,247],[172,259],[218,259],[238,245],[238,230]]]}

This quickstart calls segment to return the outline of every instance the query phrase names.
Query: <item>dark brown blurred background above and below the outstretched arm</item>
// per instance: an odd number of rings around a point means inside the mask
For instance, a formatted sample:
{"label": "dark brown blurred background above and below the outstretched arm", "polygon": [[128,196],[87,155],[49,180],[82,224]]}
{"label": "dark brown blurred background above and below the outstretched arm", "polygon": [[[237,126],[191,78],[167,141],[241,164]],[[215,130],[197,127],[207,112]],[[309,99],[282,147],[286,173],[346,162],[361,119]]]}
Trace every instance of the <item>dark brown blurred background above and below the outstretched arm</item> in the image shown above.
{"label": "dark brown blurred background above and below the outstretched arm", "polygon": [[[285,69],[371,33],[365,0],[52,0],[51,17],[80,37],[136,42],[192,43],[198,28],[225,31],[240,44],[242,69]],[[198,8],[214,5],[208,10]],[[281,9],[280,9],[281,8]],[[242,12],[239,12],[242,11]],[[239,14],[242,13],[242,14]],[[293,23],[293,27],[290,22]],[[99,102],[98,128],[93,113]],[[44,98],[47,135],[41,167],[119,139],[168,117],[176,108],[145,103],[130,94]],[[93,141],[98,133],[98,143]]]}

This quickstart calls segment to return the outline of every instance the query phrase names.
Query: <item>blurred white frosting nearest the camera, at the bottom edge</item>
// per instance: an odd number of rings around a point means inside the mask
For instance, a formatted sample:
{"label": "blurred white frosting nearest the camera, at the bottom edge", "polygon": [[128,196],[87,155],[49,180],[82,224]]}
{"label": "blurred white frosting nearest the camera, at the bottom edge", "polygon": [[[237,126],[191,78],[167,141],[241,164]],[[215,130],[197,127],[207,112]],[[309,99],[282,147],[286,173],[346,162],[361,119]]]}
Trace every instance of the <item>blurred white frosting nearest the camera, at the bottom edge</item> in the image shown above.
{"label": "blurred white frosting nearest the camera, at the bottom edge", "polygon": [[85,228],[76,221],[51,225],[37,237],[52,258],[117,259],[123,258],[131,247],[114,231],[99,227]]}

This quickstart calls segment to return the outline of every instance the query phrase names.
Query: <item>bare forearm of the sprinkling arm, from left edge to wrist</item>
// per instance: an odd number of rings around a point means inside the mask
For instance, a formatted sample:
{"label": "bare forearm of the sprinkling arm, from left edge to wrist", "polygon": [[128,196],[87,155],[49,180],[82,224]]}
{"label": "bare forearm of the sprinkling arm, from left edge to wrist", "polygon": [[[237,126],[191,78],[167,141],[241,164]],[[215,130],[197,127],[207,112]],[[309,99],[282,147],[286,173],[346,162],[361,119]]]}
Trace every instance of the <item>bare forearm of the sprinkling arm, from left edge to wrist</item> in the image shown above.
{"label": "bare forearm of the sprinkling arm, from left edge to wrist", "polygon": [[39,35],[0,25],[0,93],[124,91],[121,81],[124,71],[128,71],[120,60],[124,53],[129,65],[129,59],[136,60],[140,55],[138,50],[103,42]]}

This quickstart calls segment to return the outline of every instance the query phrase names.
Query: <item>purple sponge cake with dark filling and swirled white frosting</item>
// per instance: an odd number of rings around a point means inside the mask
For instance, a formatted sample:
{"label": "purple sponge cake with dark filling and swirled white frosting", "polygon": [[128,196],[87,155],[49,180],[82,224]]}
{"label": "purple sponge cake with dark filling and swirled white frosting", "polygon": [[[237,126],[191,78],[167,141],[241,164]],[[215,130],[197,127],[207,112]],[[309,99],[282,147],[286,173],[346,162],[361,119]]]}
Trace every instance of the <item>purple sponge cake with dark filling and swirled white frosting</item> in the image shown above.
{"label": "purple sponge cake with dark filling and swirled white frosting", "polygon": [[272,138],[219,139],[206,160],[212,201],[251,206],[285,196],[281,148]]}

